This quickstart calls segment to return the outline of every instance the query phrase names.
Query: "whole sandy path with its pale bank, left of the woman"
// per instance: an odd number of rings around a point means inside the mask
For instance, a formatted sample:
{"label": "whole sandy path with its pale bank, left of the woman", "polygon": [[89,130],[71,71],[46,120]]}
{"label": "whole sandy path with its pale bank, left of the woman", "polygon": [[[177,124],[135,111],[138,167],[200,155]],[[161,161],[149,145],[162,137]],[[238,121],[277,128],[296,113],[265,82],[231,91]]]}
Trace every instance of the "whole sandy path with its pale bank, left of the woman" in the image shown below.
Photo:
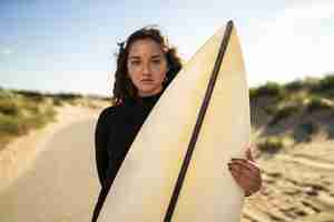
{"label": "whole sandy path with its pale bank, left of the woman", "polygon": [[58,122],[0,153],[0,221],[88,221],[98,194],[98,111],[67,107]]}

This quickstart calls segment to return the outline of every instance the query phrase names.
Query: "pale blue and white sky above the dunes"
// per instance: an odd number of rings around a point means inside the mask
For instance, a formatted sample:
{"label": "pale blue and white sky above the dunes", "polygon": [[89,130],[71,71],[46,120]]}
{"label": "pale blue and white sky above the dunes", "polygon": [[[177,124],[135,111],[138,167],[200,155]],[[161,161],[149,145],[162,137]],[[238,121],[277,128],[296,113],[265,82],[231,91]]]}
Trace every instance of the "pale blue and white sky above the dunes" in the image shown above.
{"label": "pale blue and white sky above the dunes", "polygon": [[157,24],[187,61],[228,20],[249,87],[334,73],[333,0],[0,0],[0,87],[110,95],[135,30]]}

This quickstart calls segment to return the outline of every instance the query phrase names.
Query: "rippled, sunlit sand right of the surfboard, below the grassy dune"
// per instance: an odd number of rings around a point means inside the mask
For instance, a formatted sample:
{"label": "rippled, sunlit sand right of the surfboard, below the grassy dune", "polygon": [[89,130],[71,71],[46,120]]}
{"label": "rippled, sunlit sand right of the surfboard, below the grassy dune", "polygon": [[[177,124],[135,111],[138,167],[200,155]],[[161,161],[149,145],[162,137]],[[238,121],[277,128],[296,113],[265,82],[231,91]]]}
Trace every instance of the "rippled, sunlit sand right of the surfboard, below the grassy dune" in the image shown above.
{"label": "rippled, sunlit sand right of the surfboard, below the grassy dune", "polygon": [[258,161],[262,191],[242,222],[334,222],[334,141],[314,141]]}

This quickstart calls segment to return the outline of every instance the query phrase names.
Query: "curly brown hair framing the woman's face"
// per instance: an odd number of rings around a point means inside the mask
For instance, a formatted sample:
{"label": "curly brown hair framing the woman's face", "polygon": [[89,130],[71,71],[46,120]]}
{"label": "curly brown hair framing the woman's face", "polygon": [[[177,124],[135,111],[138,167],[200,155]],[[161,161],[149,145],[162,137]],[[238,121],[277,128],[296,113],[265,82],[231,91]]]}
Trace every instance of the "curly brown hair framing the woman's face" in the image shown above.
{"label": "curly brown hair framing the woman's face", "polygon": [[125,42],[118,43],[119,52],[117,54],[117,69],[115,72],[114,83],[114,104],[121,103],[125,99],[136,98],[137,89],[132,81],[128,78],[127,60],[131,44],[137,40],[151,39],[157,42],[166,54],[168,71],[164,89],[171,82],[177,72],[181,69],[181,60],[177,56],[176,48],[170,47],[160,30],[154,27],[144,27],[128,37]]}

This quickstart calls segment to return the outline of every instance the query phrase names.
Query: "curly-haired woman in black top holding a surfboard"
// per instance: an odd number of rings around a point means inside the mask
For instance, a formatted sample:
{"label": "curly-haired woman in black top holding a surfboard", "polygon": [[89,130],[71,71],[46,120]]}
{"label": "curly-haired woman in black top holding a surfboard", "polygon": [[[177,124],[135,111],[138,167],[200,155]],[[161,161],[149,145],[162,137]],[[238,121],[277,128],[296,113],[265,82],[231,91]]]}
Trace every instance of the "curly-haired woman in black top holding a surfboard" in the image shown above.
{"label": "curly-haired woman in black top holding a surfboard", "polygon": [[[130,144],[154,104],[180,70],[176,50],[156,28],[143,28],[121,43],[115,73],[114,107],[105,109],[96,127],[96,160],[101,184],[92,221],[102,206],[108,190]],[[261,188],[261,173],[250,153],[234,159],[228,169],[246,195]]]}

